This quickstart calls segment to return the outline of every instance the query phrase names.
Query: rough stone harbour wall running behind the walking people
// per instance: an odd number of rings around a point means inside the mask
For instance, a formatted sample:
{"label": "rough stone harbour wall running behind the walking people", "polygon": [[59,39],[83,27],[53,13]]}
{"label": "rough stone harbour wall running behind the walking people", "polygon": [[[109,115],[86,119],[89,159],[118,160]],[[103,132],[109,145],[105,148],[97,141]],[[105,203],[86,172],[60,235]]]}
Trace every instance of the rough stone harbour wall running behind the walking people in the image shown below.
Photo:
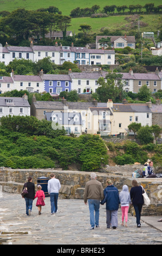
{"label": "rough stone harbour wall running behind the walking people", "polygon": [[[104,173],[96,173],[97,180],[106,187],[106,180],[111,179],[119,192],[123,185],[127,185],[129,190],[132,185],[132,172],[139,166],[107,166]],[[33,182],[37,185],[37,179],[45,176],[50,178],[50,173],[55,173],[60,180],[61,189],[59,197],[63,199],[83,199],[86,182],[90,180],[90,172],[79,172],[76,170],[53,170],[53,169],[10,169],[0,168],[0,188],[2,192],[20,193],[24,182],[32,176]],[[145,188],[151,199],[150,206],[144,206],[142,215],[161,215],[162,212],[162,178],[137,179],[139,185]]]}

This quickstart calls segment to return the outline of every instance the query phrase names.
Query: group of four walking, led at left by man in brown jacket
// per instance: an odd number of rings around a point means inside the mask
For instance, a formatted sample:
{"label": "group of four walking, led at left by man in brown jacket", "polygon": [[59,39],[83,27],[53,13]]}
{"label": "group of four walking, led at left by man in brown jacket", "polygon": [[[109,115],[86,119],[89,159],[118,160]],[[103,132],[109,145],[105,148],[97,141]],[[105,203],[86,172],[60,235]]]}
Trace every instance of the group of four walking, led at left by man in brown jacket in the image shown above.
{"label": "group of four walking, led at left by man in brown jacket", "polygon": [[122,191],[119,193],[118,188],[113,185],[112,180],[107,179],[107,187],[103,191],[102,184],[96,180],[96,174],[91,173],[90,181],[86,183],[85,187],[85,204],[89,205],[90,212],[90,229],[99,228],[99,209],[100,204],[103,205],[106,203],[106,224],[107,228],[116,229],[118,227],[118,209],[119,204],[121,204],[121,220],[124,225],[127,227],[128,221],[128,209],[129,205],[133,204],[137,227],[140,228],[140,216],[142,205],[144,204],[144,199],[142,196],[142,187],[138,186],[137,180],[132,181],[132,188],[129,193],[128,186],[124,185]]}

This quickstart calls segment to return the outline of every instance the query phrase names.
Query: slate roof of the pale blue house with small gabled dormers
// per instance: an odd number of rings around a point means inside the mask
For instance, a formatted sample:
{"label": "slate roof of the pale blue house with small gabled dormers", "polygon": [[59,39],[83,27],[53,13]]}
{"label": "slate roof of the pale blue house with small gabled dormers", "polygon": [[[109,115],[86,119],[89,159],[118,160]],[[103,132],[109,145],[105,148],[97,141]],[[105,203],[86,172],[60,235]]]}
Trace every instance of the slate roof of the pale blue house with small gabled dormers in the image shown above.
{"label": "slate roof of the pale blue house with small gabled dormers", "polygon": [[[67,113],[67,112],[47,112],[46,119],[52,121],[53,115],[56,115],[56,123],[61,125],[82,125],[82,118],[80,113]],[[74,118],[77,116],[78,121],[75,121]],[[53,120],[54,121],[54,120]]]}

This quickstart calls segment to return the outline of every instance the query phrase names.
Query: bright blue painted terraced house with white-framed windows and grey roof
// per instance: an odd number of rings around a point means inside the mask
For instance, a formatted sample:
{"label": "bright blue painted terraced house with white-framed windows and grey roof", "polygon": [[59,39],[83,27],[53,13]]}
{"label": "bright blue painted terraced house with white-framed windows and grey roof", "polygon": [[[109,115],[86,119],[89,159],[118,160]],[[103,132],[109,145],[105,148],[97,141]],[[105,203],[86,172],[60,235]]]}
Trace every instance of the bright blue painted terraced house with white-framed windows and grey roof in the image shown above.
{"label": "bright blue painted terraced house with white-framed windows and grey roof", "polygon": [[44,74],[42,76],[44,91],[47,93],[60,94],[72,90],[72,78],[69,75]]}

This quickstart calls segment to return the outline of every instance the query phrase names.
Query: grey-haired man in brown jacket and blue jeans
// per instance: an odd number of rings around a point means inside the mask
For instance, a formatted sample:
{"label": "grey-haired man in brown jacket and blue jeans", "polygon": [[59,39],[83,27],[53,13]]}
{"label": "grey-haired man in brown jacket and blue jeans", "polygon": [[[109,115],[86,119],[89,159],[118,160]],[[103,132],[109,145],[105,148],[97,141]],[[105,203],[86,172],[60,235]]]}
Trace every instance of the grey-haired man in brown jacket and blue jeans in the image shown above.
{"label": "grey-haired man in brown jacket and blue jeans", "polygon": [[[100,181],[96,180],[96,174],[90,174],[90,181],[86,183],[85,187],[85,204],[89,205],[90,212],[90,229],[94,229],[99,227],[99,209],[100,209],[100,200],[103,199],[103,187]],[[94,218],[95,212],[95,218]]]}

